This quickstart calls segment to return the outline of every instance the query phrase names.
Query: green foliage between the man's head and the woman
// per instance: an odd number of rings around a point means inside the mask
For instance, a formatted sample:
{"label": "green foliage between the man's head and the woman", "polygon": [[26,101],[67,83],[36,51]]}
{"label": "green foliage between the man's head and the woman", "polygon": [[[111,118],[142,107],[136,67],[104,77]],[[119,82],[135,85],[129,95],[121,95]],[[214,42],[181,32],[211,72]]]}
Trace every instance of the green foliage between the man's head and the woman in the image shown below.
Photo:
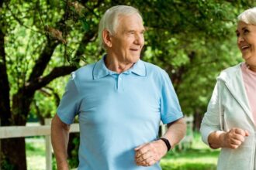
{"label": "green foliage between the man's head and the woman", "polygon": [[168,71],[185,114],[203,114],[216,76],[241,61],[234,30],[247,6],[227,1],[149,1],[142,6],[144,59]]}

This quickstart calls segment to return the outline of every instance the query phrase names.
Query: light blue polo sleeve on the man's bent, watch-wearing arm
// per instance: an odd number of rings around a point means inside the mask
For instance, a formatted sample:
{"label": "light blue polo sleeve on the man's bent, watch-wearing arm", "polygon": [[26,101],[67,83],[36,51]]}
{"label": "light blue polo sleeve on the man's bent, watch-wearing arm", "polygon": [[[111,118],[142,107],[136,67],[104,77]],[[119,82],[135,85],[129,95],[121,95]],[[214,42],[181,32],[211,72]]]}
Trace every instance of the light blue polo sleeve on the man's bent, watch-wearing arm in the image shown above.
{"label": "light blue polo sleeve on the man's bent, watch-wearing arm", "polygon": [[161,74],[161,121],[168,124],[177,121],[183,114],[168,73],[163,70]]}

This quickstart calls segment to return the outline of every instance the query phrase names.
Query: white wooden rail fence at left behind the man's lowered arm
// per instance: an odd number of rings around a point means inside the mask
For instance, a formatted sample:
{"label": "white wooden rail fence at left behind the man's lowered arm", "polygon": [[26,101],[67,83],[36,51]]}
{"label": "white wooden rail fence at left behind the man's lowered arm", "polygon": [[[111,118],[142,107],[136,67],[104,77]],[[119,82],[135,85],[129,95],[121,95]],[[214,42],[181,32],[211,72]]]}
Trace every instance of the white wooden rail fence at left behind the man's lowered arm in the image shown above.
{"label": "white wooden rail fence at left behind the man's lowered arm", "polygon": [[[45,136],[46,169],[52,169],[52,146],[50,141],[50,121],[46,119],[43,126],[10,126],[0,127],[0,141],[3,138]],[[79,132],[78,124],[71,124],[70,132]],[[0,148],[1,149],[1,148]]]}

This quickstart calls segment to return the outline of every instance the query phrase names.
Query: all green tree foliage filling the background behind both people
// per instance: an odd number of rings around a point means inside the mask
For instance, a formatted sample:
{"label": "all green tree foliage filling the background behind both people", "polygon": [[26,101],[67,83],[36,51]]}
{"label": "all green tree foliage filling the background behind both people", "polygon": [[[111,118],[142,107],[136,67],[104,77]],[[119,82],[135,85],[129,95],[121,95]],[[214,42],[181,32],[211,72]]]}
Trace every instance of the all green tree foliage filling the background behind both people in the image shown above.
{"label": "all green tree foliage filling the background behind both people", "polygon": [[[253,0],[5,1],[0,29],[5,33],[9,98],[31,90],[30,76],[47,47],[44,55],[50,59],[44,61],[47,66],[38,82],[54,68],[80,67],[101,58],[105,52],[97,39],[99,19],[107,8],[120,4],[133,5],[143,15],[147,31],[142,58],[169,73],[185,114],[203,114],[216,76],[241,61],[234,34],[237,15],[255,6]],[[40,120],[55,114],[64,93],[68,77],[55,78],[33,94],[30,112]],[[11,103],[15,114],[22,110]]]}

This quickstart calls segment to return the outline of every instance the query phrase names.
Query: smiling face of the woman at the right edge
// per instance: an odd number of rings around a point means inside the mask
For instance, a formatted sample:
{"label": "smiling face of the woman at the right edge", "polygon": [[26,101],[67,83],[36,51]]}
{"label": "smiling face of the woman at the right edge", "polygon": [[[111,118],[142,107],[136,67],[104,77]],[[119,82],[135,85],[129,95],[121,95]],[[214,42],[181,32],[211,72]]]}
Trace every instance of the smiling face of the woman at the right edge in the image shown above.
{"label": "smiling face of the woman at the right edge", "polygon": [[256,66],[256,25],[238,22],[237,46],[249,66]]}

